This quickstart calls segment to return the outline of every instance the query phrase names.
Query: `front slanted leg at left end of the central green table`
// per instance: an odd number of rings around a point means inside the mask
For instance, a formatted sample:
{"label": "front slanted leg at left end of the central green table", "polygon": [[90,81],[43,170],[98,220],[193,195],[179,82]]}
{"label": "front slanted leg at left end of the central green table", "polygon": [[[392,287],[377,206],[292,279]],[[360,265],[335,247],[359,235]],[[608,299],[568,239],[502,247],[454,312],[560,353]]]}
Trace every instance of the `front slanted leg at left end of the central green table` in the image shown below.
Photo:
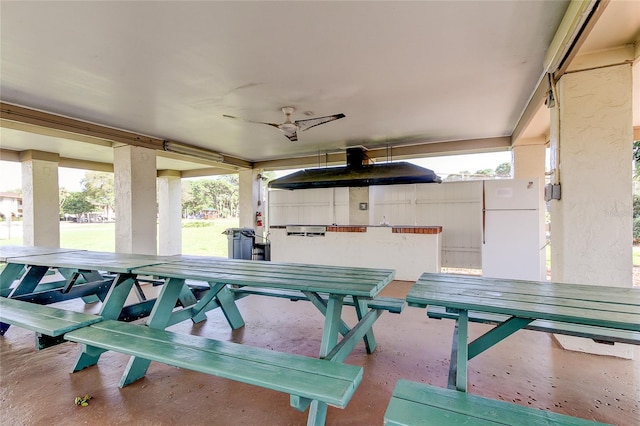
{"label": "front slanted leg at left end of the central green table", "polygon": [[[185,287],[184,279],[169,278],[162,286],[156,303],[153,305],[147,326],[164,330],[171,319],[171,312],[176,306],[176,302]],[[120,379],[121,388],[144,377],[151,361],[144,358],[132,356],[127,363],[124,374]]]}

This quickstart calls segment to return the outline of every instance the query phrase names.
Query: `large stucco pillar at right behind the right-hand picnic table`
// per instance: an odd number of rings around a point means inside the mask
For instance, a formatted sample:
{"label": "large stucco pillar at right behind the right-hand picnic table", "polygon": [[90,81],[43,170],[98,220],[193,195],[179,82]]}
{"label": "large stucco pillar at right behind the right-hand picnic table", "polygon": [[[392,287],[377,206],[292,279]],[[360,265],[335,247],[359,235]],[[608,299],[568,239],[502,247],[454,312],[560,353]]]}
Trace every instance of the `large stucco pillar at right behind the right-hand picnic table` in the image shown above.
{"label": "large stucco pillar at right behind the right-hand picnic table", "polygon": [[[631,65],[568,73],[556,89],[551,149],[557,160],[552,167],[562,193],[560,200],[551,201],[552,279],[630,287]],[[568,349],[633,355],[631,346],[557,338]]]}

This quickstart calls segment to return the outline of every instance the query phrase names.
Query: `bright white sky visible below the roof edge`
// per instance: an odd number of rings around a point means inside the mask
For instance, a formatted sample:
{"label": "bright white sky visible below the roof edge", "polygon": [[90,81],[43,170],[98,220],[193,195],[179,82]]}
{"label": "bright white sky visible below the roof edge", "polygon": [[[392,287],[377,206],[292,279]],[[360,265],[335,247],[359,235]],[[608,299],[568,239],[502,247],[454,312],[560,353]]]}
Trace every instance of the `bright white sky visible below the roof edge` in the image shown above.
{"label": "bright white sky visible below the roof edge", "polygon": [[[498,165],[511,162],[511,152],[501,151],[484,154],[449,155],[445,157],[416,159],[411,160],[411,162],[433,170],[440,177],[445,177],[446,175],[461,171],[474,173],[482,169],[495,170]],[[277,173],[277,175],[284,176],[291,172],[292,170],[287,170]],[[80,191],[82,189],[80,180],[82,180],[85,173],[85,170],[61,167],[58,172],[58,185],[67,191]],[[0,192],[11,191],[21,186],[22,176],[20,163],[0,161]]]}

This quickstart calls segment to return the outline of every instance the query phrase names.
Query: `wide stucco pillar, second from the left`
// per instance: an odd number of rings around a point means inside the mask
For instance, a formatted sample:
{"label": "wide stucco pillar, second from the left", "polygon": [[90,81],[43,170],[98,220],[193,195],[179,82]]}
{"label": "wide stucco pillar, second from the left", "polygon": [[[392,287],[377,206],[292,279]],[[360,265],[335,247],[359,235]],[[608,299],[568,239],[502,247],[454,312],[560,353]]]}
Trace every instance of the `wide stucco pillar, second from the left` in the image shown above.
{"label": "wide stucco pillar, second from the left", "polygon": [[156,152],[123,145],[113,150],[116,252],[157,253]]}

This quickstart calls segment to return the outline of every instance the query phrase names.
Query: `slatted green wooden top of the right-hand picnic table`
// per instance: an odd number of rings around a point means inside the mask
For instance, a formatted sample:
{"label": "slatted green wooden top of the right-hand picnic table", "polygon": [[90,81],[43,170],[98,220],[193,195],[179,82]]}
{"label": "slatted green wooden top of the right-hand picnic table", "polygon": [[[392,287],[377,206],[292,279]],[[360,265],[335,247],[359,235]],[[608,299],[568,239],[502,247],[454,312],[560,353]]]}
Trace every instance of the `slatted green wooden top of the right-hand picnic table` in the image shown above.
{"label": "slatted green wooden top of the right-hand picnic table", "polygon": [[630,287],[425,273],[407,303],[640,331],[640,289]]}

